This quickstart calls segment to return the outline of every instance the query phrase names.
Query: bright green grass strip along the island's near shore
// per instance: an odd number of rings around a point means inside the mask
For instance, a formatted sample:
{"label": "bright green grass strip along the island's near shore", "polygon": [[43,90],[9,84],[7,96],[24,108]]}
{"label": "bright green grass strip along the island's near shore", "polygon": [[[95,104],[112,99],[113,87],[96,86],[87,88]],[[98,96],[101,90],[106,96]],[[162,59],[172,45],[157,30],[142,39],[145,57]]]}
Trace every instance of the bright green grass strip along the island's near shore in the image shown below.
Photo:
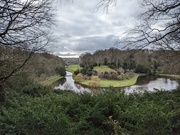
{"label": "bright green grass strip along the island's near shore", "polygon": [[[124,86],[131,86],[134,85],[137,81],[137,78],[139,77],[138,74],[135,74],[135,76],[131,79],[127,79],[127,80],[122,80],[122,81],[118,81],[118,80],[100,80],[100,87],[124,87]],[[84,80],[82,82],[80,82],[84,85],[89,85],[89,80]]]}

